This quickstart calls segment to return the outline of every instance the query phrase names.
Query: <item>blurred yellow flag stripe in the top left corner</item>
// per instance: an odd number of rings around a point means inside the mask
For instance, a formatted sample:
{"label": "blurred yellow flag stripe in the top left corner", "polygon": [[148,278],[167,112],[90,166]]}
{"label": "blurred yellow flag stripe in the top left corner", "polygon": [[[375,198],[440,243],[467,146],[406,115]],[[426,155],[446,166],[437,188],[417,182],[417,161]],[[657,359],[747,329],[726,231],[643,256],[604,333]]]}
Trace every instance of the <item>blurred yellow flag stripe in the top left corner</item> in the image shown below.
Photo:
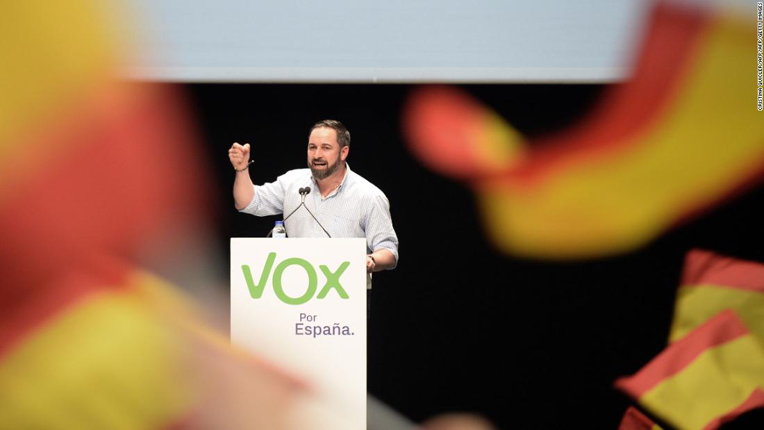
{"label": "blurred yellow flag stripe in the top left corner", "polygon": [[[3,2],[0,13],[0,168],[12,166],[26,134],[60,121],[115,73],[118,44],[105,11],[115,3]],[[56,150],[50,141],[42,152]],[[37,151],[40,152],[40,151]]]}

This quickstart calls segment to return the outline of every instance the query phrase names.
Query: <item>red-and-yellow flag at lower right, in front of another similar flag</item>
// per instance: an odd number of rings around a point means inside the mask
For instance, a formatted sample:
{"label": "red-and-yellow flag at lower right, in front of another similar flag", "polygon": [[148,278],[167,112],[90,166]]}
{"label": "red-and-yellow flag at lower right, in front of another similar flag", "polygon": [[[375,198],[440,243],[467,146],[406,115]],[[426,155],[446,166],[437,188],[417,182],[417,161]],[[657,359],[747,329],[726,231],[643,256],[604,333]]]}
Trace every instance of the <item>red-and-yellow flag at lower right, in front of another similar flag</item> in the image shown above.
{"label": "red-and-yellow flag at lower right, in front of another similar flag", "polygon": [[718,428],[764,406],[764,348],[726,310],[616,386],[677,428]]}

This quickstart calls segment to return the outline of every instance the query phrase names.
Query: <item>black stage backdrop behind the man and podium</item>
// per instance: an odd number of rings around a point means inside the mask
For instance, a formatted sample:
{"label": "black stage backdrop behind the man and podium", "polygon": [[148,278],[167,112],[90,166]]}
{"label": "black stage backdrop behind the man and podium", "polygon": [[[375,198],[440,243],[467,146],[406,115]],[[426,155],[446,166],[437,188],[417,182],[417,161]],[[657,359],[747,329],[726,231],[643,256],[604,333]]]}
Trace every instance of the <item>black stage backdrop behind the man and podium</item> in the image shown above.
{"label": "black stage backdrop behind the man and podium", "polygon": [[[533,136],[575,122],[604,86],[461,88]],[[228,238],[261,237],[277,218],[233,209],[231,143],[252,145],[251,176],[264,183],[306,167],[313,122],[348,126],[348,162],[387,194],[400,239],[399,267],[374,277],[369,391],[417,422],[472,411],[500,428],[617,428],[630,401],[613,380],[664,348],[685,252],[703,247],[764,261],[762,187],[630,254],[520,260],[490,246],[470,189],[406,150],[400,111],[410,86],[186,89],[215,169],[222,261]],[[228,268],[220,273],[227,277]]]}

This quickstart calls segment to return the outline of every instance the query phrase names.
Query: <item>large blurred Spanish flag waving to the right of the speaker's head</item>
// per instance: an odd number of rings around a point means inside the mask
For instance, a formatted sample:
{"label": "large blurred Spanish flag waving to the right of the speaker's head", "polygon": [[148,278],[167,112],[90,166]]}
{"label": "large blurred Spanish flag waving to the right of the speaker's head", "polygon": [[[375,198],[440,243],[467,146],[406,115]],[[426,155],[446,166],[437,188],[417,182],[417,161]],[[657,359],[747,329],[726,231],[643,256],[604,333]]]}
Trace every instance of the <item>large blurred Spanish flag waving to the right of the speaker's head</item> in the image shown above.
{"label": "large blurred Spanish flag waving to the right of the speaker's head", "polygon": [[403,115],[411,152],[474,189],[502,251],[575,259],[643,246],[764,171],[753,14],[668,0],[646,28],[632,77],[571,128],[527,139],[464,92],[424,86]]}

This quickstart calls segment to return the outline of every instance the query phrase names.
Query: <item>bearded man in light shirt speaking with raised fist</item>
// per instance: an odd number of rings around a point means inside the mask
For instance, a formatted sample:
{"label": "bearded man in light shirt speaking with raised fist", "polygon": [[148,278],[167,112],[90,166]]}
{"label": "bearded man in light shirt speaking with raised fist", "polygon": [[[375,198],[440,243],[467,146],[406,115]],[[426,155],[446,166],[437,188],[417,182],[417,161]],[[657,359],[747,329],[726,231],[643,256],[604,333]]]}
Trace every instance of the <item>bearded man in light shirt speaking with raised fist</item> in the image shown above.
{"label": "bearded man in light shirt speaking with raised fist", "polygon": [[[252,183],[250,150],[249,144],[238,143],[228,150],[236,170],[234,200],[239,212],[289,214],[284,226],[292,238],[366,238],[367,273],[396,267],[398,238],[390,202],[384,192],[348,167],[350,132],[345,125],[331,119],[313,124],[308,138],[309,169],[290,170],[273,183]],[[305,208],[296,210],[303,199]],[[371,276],[367,276],[367,288],[371,288]]]}

